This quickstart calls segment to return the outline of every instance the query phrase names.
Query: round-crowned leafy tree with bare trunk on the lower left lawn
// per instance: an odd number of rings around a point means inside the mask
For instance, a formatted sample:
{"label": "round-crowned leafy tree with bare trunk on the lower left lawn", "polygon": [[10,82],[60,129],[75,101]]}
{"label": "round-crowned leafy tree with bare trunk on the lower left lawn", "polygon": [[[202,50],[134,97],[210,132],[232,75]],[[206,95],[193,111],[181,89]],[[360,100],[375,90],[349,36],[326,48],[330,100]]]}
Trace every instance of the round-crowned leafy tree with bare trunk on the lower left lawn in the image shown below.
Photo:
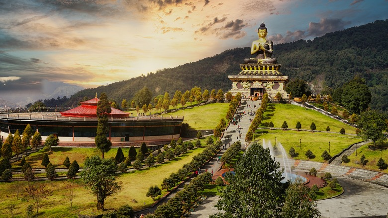
{"label": "round-crowned leafy tree with bare trunk on the lower left lawn", "polygon": [[117,165],[113,158],[101,159],[99,156],[88,158],[80,176],[94,196],[97,197],[97,209],[104,210],[108,196],[118,193],[121,185],[116,181]]}

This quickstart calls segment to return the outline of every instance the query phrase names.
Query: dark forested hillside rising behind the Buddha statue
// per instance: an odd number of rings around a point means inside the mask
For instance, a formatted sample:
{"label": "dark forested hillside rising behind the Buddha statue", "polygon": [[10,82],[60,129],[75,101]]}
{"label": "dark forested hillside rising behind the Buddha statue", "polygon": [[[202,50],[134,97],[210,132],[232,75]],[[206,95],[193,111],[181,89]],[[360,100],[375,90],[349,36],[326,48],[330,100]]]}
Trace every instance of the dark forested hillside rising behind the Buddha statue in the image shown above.
{"label": "dark forested hillside rising behind the Buddha statue", "polygon": [[[388,20],[328,33],[313,41],[274,45],[280,71],[289,79],[309,82],[314,94],[332,92],[358,75],[367,80],[372,92],[370,106],[387,113],[388,106]],[[77,105],[87,96],[106,92],[109,99],[131,100],[147,86],[153,95],[184,92],[194,86],[204,89],[231,89],[228,75],[240,72],[239,64],[250,57],[250,48],[235,48],[197,62],[148,73],[73,95],[67,105]]]}

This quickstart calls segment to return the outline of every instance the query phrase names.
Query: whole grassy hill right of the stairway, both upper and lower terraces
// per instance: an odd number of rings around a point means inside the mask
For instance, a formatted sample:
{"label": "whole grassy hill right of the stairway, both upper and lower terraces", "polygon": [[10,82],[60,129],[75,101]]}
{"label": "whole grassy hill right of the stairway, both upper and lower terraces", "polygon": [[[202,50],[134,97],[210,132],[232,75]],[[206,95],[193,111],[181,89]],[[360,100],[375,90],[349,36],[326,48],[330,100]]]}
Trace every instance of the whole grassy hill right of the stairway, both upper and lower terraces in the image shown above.
{"label": "whole grassy hill right of the stairway, both upper and lower terraces", "polygon": [[[362,141],[355,135],[355,128],[348,126],[338,120],[332,119],[311,109],[302,108],[290,104],[269,104],[264,112],[264,120],[261,127],[266,127],[269,122],[274,123],[274,128],[281,128],[283,121],[288,123],[289,129],[294,130],[257,130],[255,139],[262,142],[263,139],[275,144],[275,137],[281,143],[286,152],[293,147],[298,156],[294,159],[308,160],[305,156],[307,150],[311,150],[315,158],[311,161],[324,162],[321,157],[323,151],[329,151],[330,155],[340,153],[349,145]],[[295,126],[300,121],[302,131],[297,131]],[[310,130],[311,123],[314,122],[317,129]],[[331,131],[326,132],[326,127],[330,126]],[[340,134],[339,130],[344,128],[347,134]],[[290,155],[288,155],[289,158]]]}

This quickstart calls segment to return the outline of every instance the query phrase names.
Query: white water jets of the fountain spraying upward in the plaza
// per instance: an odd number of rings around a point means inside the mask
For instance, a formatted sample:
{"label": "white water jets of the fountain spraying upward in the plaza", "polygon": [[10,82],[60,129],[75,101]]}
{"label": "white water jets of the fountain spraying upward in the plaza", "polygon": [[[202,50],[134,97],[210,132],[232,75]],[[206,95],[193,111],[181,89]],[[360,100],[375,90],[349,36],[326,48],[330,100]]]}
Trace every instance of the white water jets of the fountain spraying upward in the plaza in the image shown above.
{"label": "white water jets of the fountain spraying upward in the plaza", "polygon": [[[266,141],[265,139],[263,139],[263,147],[264,148],[269,148],[270,149],[270,154],[274,158],[276,156],[279,156],[279,155],[276,154],[274,146],[272,146],[270,141]],[[278,161],[280,160],[279,161],[280,163],[283,163],[284,172],[283,172],[282,176],[284,177],[284,179],[282,180],[282,182],[285,183],[288,180],[291,180],[291,182],[294,182],[297,178],[301,179],[303,182],[307,182],[306,178],[291,173],[290,163],[287,160],[287,153],[286,153],[286,150],[284,149],[284,147],[282,146],[282,144],[280,142],[277,142],[276,147],[278,148],[278,150],[279,150],[279,152],[281,153],[281,156],[282,156],[281,158],[280,157],[276,157],[276,159],[278,159]]]}

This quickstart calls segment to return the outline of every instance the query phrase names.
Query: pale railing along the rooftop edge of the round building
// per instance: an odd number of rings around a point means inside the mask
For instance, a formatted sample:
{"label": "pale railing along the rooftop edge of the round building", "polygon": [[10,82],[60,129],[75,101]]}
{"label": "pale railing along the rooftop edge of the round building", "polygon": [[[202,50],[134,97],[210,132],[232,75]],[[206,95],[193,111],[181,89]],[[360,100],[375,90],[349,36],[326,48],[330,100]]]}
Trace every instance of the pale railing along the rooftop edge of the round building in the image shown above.
{"label": "pale railing along the rooftop edge of the round building", "polygon": [[[66,117],[59,113],[2,113],[0,118],[3,119],[20,119],[20,120],[56,120],[56,121],[98,121],[97,118],[90,117]],[[147,121],[147,120],[183,120],[182,116],[130,116],[125,118],[112,118],[109,121]]]}

